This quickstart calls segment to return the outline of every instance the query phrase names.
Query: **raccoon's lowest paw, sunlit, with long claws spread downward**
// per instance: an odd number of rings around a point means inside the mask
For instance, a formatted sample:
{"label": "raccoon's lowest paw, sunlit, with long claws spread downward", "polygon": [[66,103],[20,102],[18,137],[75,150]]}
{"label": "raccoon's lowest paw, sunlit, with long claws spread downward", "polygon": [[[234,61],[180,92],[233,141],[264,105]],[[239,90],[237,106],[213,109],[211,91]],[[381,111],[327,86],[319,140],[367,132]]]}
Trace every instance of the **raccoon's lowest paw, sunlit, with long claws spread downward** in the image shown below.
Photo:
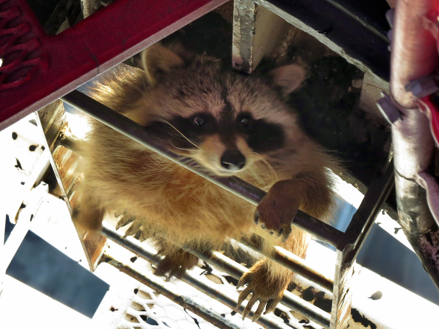
{"label": "raccoon's lowest paw, sunlit, with long claws spread downward", "polygon": [[255,322],[262,314],[265,308],[264,315],[270,313],[276,308],[277,303],[281,301],[284,296],[285,283],[278,278],[271,277],[267,271],[266,264],[259,261],[252,268],[242,275],[236,289],[248,283],[248,286],[242,290],[238,297],[236,307],[240,307],[242,302],[247,298],[249,293],[252,293],[252,298],[242,312],[242,319],[245,319],[252,310],[253,305],[259,300],[258,308],[253,314],[252,322]]}

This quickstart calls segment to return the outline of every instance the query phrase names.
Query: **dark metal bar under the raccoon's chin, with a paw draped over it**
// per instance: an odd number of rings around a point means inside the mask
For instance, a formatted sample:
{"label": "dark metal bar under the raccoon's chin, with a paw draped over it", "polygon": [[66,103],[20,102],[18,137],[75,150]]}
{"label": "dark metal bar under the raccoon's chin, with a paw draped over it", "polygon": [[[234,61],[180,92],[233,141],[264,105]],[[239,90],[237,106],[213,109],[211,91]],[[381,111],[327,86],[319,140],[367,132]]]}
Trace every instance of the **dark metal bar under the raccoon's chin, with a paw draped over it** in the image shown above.
{"label": "dark metal bar under the raccoon's chin, with a paw draped over it", "polygon": [[[98,101],[84,95],[77,90],[74,90],[64,97],[61,97],[61,100],[252,204],[259,204],[260,200],[262,200],[262,198],[266,195],[266,192],[243,179],[235,176],[221,177],[212,175],[209,172],[195,168],[196,164],[186,164],[185,159],[180,160],[180,156],[177,156],[176,154],[167,150],[166,147],[155,142],[154,139],[151,138],[151,133],[148,132],[148,129],[145,129],[144,126],[137,124],[126,116],[112,110],[111,108],[99,103]],[[300,210],[297,212],[293,224],[313,234],[319,240],[328,242],[335,247],[338,247],[340,241],[342,240],[343,232]]]}

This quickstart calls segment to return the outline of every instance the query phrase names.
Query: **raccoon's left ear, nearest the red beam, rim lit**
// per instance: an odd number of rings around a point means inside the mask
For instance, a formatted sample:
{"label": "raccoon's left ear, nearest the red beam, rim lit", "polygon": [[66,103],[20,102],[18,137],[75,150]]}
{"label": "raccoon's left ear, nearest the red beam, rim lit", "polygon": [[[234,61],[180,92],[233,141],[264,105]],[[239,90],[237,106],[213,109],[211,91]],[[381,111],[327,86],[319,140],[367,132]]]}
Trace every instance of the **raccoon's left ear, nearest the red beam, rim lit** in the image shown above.
{"label": "raccoon's left ear, nearest the red beam, rim lit", "polygon": [[151,86],[155,85],[158,72],[169,72],[171,68],[184,64],[180,56],[157,43],[143,50],[140,55],[142,68]]}

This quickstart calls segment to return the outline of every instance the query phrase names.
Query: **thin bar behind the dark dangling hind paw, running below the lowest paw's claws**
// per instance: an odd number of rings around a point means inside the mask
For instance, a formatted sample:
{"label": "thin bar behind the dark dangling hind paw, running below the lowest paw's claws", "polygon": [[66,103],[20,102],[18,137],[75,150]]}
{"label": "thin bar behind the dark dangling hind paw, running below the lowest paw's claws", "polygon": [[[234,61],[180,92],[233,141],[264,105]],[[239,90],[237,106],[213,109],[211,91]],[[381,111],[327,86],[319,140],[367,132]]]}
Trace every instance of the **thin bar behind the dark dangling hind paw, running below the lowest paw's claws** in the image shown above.
{"label": "thin bar behind the dark dangling hind paw, running below the lowest paw's claws", "polygon": [[[119,244],[120,246],[126,248],[127,250],[130,250],[132,253],[136,254],[137,256],[144,259],[145,261],[150,262],[151,264],[158,265],[158,263],[163,258],[162,256],[159,256],[154,249],[148,248],[148,246],[145,246],[144,244],[140,243],[138,240],[134,239],[131,236],[127,237],[126,239],[122,239],[123,233],[116,232],[114,227],[112,227],[106,222],[102,223],[101,234],[106,238]],[[244,306],[240,306],[239,308],[236,308],[236,300],[233,300],[232,298],[224,295],[223,293],[221,293],[219,290],[216,290],[212,286],[203,283],[202,281],[197,279],[194,275],[191,275],[188,272],[184,273],[179,279],[193,286],[195,289],[201,291],[202,293],[205,293],[209,297],[218,300],[220,303],[226,305],[227,307],[236,310],[239,314],[242,314],[242,312],[244,311]],[[250,314],[247,317],[252,318],[253,314],[254,312],[250,312]],[[262,325],[266,329],[289,328],[287,325],[284,325],[283,323],[278,324],[263,316],[260,317],[256,321],[256,323]]]}

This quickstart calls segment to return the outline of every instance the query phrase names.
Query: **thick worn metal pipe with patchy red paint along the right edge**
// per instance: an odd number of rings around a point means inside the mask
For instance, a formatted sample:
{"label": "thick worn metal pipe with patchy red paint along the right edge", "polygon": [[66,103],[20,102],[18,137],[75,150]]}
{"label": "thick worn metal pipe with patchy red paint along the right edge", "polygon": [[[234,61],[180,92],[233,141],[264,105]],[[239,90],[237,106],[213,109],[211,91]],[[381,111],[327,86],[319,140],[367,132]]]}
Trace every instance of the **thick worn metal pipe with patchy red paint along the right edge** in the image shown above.
{"label": "thick worn metal pipe with patchy red paint along the right edge", "polygon": [[[438,0],[398,1],[393,27],[390,92],[403,114],[392,124],[398,222],[439,288],[439,228],[428,208],[417,173],[428,170],[434,141],[428,118],[417,109],[418,100],[405,90],[408,82],[434,72],[439,63],[436,41],[425,27],[436,13]],[[431,24],[434,25],[435,21]]]}

